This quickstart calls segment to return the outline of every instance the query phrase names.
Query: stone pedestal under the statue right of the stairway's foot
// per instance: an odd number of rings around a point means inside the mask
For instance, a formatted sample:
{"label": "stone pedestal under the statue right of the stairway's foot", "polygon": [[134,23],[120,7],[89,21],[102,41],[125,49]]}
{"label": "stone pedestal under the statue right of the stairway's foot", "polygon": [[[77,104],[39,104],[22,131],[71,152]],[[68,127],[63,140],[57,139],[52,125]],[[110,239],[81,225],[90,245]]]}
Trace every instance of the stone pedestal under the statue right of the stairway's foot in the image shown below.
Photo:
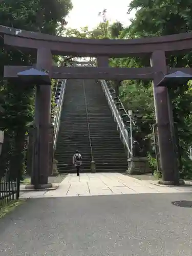
{"label": "stone pedestal under the statue right of the stairway's foot", "polygon": [[150,164],[147,157],[131,157],[128,160],[129,168],[127,173],[129,174],[146,174],[150,173]]}

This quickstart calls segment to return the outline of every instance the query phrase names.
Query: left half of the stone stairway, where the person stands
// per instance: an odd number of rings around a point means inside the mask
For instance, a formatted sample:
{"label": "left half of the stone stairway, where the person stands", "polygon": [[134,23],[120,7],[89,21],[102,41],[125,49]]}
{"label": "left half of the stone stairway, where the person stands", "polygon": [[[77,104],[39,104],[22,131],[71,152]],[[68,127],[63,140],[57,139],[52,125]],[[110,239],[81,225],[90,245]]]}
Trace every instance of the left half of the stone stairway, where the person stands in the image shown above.
{"label": "left half of the stone stairway, where the person stands", "polygon": [[81,80],[68,80],[55,152],[60,173],[75,172],[72,165],[75,150],[83,156],[82,171],[90,172],[91,150],[83,84]]}

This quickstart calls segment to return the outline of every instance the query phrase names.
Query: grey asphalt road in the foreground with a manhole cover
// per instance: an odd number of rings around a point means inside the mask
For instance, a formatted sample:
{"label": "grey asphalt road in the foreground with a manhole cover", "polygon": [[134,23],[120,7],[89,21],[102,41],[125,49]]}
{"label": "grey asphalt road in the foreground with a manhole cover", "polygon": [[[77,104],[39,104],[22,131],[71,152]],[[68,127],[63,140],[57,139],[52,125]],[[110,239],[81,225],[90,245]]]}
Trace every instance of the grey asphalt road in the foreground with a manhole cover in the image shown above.
{"label": "grey asphalt road in the foreground with a manhole cover", "polygon": [[0,220],[0,255],[188,256],[191,206],[190,193],[29,199]]}

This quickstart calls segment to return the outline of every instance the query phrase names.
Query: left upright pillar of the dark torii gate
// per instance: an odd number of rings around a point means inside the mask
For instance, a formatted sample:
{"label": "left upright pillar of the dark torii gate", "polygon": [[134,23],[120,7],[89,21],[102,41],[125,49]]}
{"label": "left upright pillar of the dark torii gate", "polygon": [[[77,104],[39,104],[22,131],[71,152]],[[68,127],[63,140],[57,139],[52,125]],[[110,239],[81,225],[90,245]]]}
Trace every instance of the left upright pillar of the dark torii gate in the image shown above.
{"label": "left upright pillar of the dark torii gate", "polygon": [[[50,72],[52,54],[49,49],[40,48],[37,51],[37,69]],[[51,85],[36,87],[35,102],[35,148],[33,153],[32,184],[41,187],[48,184],[49,173],[49,141],[51,119]],[[34,185],[35,185],[34,184]],[[51,186],[51,185],[50,185]]]}

